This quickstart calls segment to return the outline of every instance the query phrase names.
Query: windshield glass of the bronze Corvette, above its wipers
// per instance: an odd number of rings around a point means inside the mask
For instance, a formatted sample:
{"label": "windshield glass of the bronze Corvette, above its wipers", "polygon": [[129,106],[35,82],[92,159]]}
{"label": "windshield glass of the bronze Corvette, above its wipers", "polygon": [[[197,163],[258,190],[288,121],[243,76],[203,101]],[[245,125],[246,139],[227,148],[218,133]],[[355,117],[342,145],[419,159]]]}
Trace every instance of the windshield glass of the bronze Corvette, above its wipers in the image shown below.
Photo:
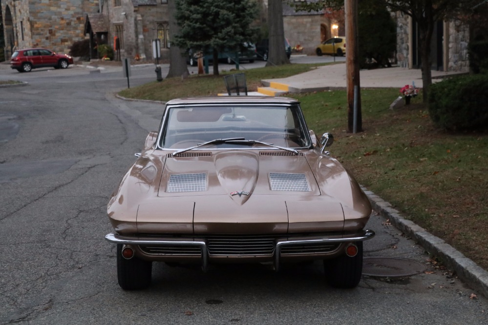
{"label": "windshield glass of the bronze Corvette, above its wipers", "polygon": [[[169,107],[164,121],[160,130],[160,148],[178,150],[192,146],[202,149],[256,146],[273,149],[266,144],[283,148],[311,145],[298,105]],[[238,141],[215,141],[222,139]],[[205,142],[211,143],[198,146]]]}

